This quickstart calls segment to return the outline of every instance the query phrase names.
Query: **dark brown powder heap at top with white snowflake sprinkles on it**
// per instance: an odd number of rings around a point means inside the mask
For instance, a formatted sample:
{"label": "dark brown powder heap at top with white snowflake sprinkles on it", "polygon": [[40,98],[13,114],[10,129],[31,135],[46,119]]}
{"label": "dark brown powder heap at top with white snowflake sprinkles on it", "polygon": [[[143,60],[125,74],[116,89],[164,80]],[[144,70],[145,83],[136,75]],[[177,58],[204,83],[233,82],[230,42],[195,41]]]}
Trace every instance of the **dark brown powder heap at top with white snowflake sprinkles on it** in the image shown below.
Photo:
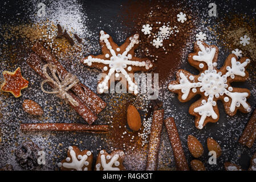
{"label": "dark brown powder heap at top with white snowflake sprinkles on it", "polygon": [[[155,72],[159,73],[160,82],[164,81],[181,62],[182,49],[186,47],[194,28],[193,15],[190,10],[177,8],[176,2],[165,2],[160,5],[161,3],[153,1],[150,7],[147,7],[145,3],[132,3],[127,7],[128,18],[125,22],[132,24],[129,22],[129,19],[132,19],[134,22],[133,31],[140,35],[137,54],[147,56],[155,61],[157,64]],[[141,7],[143,5],[146,8]],[[145,12],[145,14],[141,14],[141,12]],[[186,14],[184,23],[179,22],[177,18],[181,12]],[[137,17],[134,16],[136,13],[138,14]],[[147,24],[152,29],[149,34],[145,35],[142,30]],[[166,32],[166,30],[168,31]],[[162,40],[162,46],[158,48],[153,44],[157,39]]]}

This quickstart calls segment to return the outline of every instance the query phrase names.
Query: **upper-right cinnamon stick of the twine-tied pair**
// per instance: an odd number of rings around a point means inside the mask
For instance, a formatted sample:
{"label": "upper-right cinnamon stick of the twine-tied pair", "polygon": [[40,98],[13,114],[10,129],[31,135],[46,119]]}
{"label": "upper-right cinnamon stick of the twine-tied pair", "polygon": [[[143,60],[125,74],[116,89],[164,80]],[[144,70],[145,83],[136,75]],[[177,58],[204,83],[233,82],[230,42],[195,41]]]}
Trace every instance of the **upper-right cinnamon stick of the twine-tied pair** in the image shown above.
{"label": "upper-right cinnamon stick of the twine-tied pair", "polygon": [[[39,57],[41,57],[47,63],[51,63],[56,65],[58,71],[60,72],[60,76],[62,78],[66,77],[67,70],[56,60],[55,56],[47,51],[40,43],[35,43],[32,46],[32,51],[34,51]],[[96,115],[100,113],[102,109],[106,106],[105,102],[101,100],[97,94],[92,92],[86,85],[82,83],[78,83],[71,89],[76,96],[80,98],[81,101],[84,102]]]}

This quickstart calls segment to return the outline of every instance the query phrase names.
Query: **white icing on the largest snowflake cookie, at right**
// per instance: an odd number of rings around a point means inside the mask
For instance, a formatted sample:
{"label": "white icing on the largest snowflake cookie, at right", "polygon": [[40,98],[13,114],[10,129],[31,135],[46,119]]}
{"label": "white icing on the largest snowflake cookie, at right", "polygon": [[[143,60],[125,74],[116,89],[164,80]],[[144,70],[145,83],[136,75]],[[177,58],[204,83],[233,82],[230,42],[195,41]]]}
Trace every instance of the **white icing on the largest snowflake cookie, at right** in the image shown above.
{"label": "white icing on the largest snowflake cookie, at right", "polygon": [[[208,69],[202,72],[197,78],[198,82],[195,82],[195,80],[192,79],[192,75],[188,74],[188,76],[185,76],[183,72],[180,72],[180,84],[170,84],[168,89],[181,90],[181,99],[186,100],[190,93],[190,89],[192,89],[193,93],[196,93],[197,87],[200,87],[200,92],[208,97],[208,102],[203,100],[201,106],[194,108],[194,112],[201,115],[200,121],[198,122],[198,128],[202,129],[206,117],[212,117],[213,119],[218,118],[218,115],[213,110],[213,106],[217,105],[214,98],[220,98],[220,96],[224,96],[224,94],[229,96],[224,98],[221,97],[224,102],[229,102],[231,98],[230,112],[234,112],[235,107],[240,107],[241,105],[247,112],[250,112],[251,108],[246,103],[246,97],[248,97],[249,94],[247,92],[233,92],[233,88],[227,83],[228,77],[231,77],[232,79],[234,79],[235,75],[245,77],[245,67],[250,63],[250,60],[246,59],[246,61],[240,63],[235,57],[231,57],[231,67],[227,66],[226,74],[222,75],[222,72],[216,69],[217,63],[213,63],[216,48],[206,48],[200,41],[197,41],[197,45],[201,51],[198,52],[198,55],[194,55],[192,59],[206,63]],[[200,63],[199,67],[204,68],[204,64]],[[192,82],[190,82],[188,78]]]}

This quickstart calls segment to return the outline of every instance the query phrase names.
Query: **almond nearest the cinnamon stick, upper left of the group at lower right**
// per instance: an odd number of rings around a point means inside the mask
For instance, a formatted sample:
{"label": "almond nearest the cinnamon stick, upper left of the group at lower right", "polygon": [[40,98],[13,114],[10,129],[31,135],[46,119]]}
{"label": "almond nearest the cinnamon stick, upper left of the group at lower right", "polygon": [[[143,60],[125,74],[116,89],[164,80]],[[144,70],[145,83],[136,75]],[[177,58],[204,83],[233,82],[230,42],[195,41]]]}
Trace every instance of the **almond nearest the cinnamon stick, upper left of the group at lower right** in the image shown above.
{"label": "almond nearest the cinnamon stick, upper left of the group at lower right", "polygon": [[188,136],[188,148],[194,158],[199,158],[204,153],[202,144],[192,135]]}

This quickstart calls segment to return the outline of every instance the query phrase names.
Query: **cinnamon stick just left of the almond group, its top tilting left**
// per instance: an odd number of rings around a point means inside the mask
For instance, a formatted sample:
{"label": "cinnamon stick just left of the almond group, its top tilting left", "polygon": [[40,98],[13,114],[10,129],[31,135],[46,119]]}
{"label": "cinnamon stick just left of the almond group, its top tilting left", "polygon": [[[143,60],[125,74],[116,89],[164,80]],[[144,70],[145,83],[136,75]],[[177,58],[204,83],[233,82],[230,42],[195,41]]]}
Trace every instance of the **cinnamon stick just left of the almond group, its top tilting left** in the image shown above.
{"label": "cinnamon stick just left of the almond group, its top tilting left", "polygon": [[170,144],[172,145],[174,160],[176,167],[179,171],[189,171],[188,162],[186,161],[186,156],[184,154],[180,136],[178,135],[178,130],[173,118],[167,118],[164,121],[165,127],[167,129]]}

